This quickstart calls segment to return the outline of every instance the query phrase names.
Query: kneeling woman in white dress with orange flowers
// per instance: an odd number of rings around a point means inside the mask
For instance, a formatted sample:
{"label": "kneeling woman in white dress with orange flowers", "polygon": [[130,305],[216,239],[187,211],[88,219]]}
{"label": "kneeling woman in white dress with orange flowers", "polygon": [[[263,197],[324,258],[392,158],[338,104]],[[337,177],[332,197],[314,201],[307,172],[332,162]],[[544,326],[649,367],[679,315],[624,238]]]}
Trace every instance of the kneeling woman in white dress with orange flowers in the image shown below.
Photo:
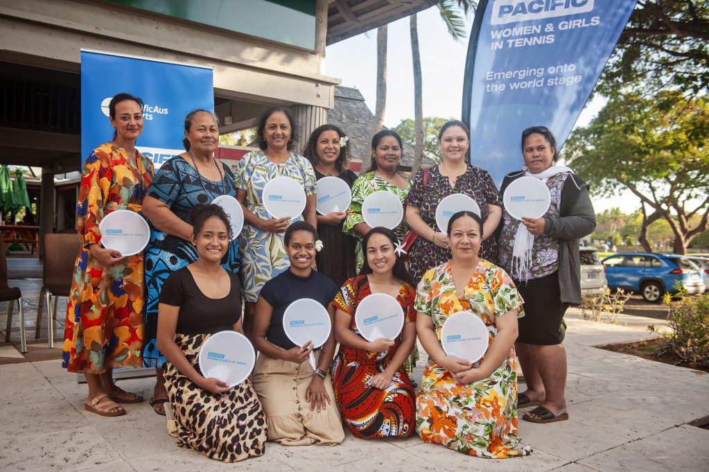
{"label": "kneeling woman in white dress with orange flowers", "polygon": [[[416,332],[429,354],[416,397],[416,429],[425,442],[492,459],[527,456],[517,437],[517,317],[522,298],[499,267],[479,259],[483,222],[461,211],[448,223],[453,258],[423,275],[414,307]],[[488,328],[479,364],[445,354],[441,329],[471,311]]]}

